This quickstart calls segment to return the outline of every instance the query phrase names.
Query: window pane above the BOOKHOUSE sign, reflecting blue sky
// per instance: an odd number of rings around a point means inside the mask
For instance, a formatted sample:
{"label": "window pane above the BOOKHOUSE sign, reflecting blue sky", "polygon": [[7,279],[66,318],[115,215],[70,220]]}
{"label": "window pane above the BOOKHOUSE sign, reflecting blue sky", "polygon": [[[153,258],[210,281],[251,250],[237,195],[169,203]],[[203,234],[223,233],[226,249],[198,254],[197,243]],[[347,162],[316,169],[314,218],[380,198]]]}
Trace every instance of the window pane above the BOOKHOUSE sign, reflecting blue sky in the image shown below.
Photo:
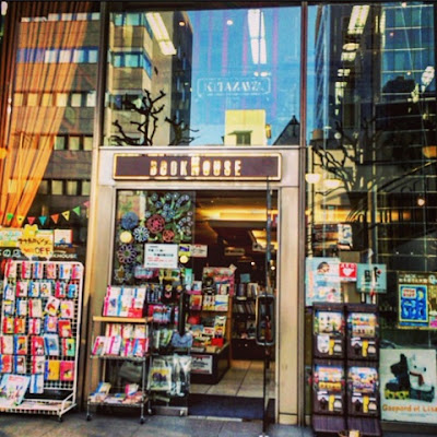
{"label": "window pane above the BOOKHOUSE sign, reflecting blue sky", "polygon": [[109,28],[105,145],[298,144],[299,8],[118,9]]}

